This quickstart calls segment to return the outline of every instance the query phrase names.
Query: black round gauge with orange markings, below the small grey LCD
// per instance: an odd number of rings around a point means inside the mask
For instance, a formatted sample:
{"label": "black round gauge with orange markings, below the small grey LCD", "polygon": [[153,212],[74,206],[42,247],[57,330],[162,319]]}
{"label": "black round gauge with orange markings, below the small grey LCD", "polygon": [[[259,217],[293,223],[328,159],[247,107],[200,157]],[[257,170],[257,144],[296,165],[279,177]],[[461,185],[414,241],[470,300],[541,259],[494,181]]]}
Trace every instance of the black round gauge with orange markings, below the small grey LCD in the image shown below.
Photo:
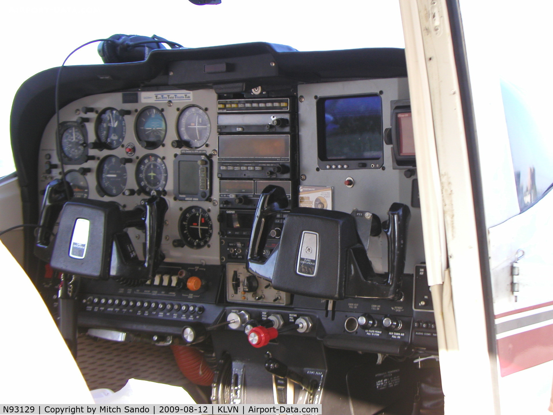
{"label": "black round gauge with orange markings, below the small grey LCD", "polygon": [[203,248],[213,235],[211,217],[200,206],[187,207],[180,215],[179,234],[186,246]]}

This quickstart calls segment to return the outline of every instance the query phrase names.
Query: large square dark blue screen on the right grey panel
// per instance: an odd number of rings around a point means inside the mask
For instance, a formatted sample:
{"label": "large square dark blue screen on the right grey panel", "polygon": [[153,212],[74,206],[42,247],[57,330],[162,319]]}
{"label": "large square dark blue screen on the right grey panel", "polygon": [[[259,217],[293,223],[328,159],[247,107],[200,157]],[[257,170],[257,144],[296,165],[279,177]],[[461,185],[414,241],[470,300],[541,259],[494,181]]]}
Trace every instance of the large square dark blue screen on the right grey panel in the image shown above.
{"label": "large square dark blue screen on the right grey panel", "polygon": [[321,160],[382,158],[380,96],[319,98],[317,141]]}

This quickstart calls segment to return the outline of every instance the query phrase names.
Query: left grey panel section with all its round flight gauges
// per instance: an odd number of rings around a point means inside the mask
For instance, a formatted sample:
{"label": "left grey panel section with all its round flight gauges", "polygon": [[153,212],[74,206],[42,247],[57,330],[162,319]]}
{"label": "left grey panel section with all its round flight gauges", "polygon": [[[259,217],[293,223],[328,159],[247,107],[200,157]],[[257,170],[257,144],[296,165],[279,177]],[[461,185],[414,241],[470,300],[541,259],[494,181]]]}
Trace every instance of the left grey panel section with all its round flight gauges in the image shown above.
{"label": "left grey panel section with all its round flight gauges", "polygon": [[[165,261],[220,264],[216,110],[213,90],[117,92],[72,102],[61,108],[60,124],[53,117],[44,131],[39,190],[65,174],[75,197],[123,210],[162,197],[169,205]],[[142,256],[144,232],[129,235]]]}

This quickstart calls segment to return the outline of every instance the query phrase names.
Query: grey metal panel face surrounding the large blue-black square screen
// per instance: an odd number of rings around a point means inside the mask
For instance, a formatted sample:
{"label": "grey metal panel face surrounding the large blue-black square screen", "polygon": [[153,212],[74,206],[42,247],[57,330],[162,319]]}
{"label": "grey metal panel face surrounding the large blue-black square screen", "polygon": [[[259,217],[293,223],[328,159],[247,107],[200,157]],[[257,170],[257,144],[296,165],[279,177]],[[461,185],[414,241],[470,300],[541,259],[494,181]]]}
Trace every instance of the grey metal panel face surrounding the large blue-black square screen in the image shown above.
{"label": "grey metal panel face surrounding the large blue-black square screen", "polygon": [[[394,202],[408,205],[411,210],[405,272],[411,273],[415,264],[424,261],[420,209],[411,207],[411,181],[404,170],[392,168],[392,146],[384,145],[384,163],[375,169],[343,169],[339,162],[330,162],[330,169],[319,168],[317,162],[317,100],[356,95],[379,95],[382,98],[382,129],[390,127],[390,101],[409,98],[406,78],[328,82],[298,86],[300,175],[302,186],[332,186],[332,209],[351,212],[353,209],[377,214],[388,219],[388,208]],[[343,163],[342,163],[343,164]],[[333,167],[334,166],[334,167]],[[342,167],[342,168],[341,168]],[[351,167],[351,166],[348,166]],[[384,168],[384,169],[383,169]],[[415,176],[416,178],[416,176]],[[347,179],[353,185],[346,185]],[[386,236],[371,237],[369,257],[375,271],[383,272],[387,265]]]}

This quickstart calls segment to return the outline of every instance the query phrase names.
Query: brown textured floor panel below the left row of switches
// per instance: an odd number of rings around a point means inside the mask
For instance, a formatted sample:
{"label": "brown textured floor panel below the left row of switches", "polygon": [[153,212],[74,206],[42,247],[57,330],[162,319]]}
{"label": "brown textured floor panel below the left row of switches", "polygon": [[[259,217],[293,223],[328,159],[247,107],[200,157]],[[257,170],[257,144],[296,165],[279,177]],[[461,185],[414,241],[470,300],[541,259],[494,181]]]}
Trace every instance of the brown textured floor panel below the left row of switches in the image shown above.
{"label": "brown textured floor panel below the left row of switches", "polygon": [[181,386],[198,403],[208,402],[208,388],[196,386],[182,375],[166,346],[118,343],[79,335],[77,365],[88,388],[120,390],[129,378]]}

